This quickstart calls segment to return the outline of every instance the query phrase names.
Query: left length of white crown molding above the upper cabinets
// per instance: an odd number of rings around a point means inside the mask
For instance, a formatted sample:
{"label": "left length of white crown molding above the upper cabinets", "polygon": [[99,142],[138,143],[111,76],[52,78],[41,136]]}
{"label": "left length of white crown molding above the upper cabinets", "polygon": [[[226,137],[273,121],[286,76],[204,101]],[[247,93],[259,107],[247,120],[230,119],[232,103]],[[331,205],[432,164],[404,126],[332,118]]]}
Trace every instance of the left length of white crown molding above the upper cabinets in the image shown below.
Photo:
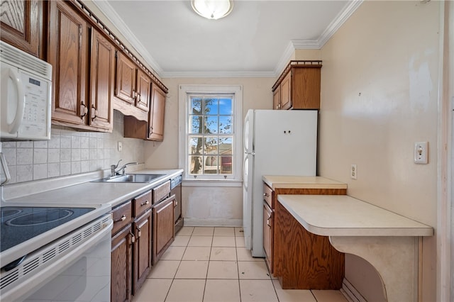
{"label": "left length of white crown molding above the upper cabinets", "polygon": [[107,1],[92,1],[92,3],[98,7],[98,9],[104,13],[104,16],[111,21],[112,24],[118,29],[124,38],[131,44],[131,46],[138,52],[140,57],[143,57],[150,67],[157,73],[158,76],[162,74],[163,70],[159,63],[150,55],[150,52],[143,46],[140,40],[134,35],[131,29],[126,26],[123,19],[116,13],[112,6]]}

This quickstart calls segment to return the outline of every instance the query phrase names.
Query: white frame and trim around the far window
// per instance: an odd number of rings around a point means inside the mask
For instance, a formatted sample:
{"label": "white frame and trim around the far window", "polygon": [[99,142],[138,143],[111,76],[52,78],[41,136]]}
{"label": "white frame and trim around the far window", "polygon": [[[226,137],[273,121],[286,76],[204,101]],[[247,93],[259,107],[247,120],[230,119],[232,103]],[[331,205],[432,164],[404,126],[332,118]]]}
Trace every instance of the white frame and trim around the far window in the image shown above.
{"label": "white frame and trim around the far window", "polygon": [[[233,94],[233,173],[227,176],[217,175],[204,176],[200,175],[194,178],[187,171],[187,131],[188,131],[188,94]],[[183,180],[186,182],[215,182],[218,185],[220,182],[238,182],[243,176],[243,86],[241,85],[179,85],[178,90],[179,104],[179,152],[178,162],[179,167],[184,169]],[[186,182],[187,184],[187,182]],[[190,185],[190,184],[189,184]]]}

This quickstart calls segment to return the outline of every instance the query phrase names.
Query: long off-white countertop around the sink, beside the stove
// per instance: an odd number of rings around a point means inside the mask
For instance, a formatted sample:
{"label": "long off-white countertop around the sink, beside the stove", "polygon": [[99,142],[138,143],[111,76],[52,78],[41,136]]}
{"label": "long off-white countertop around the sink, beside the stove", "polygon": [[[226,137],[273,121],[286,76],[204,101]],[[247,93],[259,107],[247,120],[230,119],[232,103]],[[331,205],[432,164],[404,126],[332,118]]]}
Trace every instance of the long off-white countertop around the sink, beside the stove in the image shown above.
{"label": "long off-white countertop around the sink, beside the stove", "polygon": [[[85,181],[79,184],[49,189],[33,193],[29,189],[33,185],[17,184],[16,190],[26,189],[28,194],[16,198],[10,198],[2,203],[2,206],[19,206],[23,204],[39,203],[40,206],[55,206],[56,204],[109,204],[112,208],[134,198],[153,187],[168,181],[172,177],[182,174],[182,169],[142,169],[130,174],[165,174],[164,177],[154,179],[149,183],[118,183],[118,182],[91,182]],[[92,179],[94,180],[94,179]],[[33,182],[33,181],[32,181]],[[38,182],[45,185],[46,181]],[[22,188],[22,186],[24,186]]]}

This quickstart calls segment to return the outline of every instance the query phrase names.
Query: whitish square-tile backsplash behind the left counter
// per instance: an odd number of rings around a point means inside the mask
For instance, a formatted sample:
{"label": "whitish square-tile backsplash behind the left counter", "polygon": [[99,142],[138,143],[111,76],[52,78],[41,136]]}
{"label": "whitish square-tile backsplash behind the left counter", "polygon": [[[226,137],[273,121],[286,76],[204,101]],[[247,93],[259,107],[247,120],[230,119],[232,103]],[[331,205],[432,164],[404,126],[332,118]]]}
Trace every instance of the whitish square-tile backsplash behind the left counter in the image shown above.
{"label": "whitish square-tile backsplash behind the left counter", "polygon": [[[118,151],[118,142],[122,150]],[[144,162],[144,141],[123,137],[123,114],[114,111],[112,133],[81,132],[52,125],[48,141],[1,142],[10,184],[109,169],[123,160]]]}

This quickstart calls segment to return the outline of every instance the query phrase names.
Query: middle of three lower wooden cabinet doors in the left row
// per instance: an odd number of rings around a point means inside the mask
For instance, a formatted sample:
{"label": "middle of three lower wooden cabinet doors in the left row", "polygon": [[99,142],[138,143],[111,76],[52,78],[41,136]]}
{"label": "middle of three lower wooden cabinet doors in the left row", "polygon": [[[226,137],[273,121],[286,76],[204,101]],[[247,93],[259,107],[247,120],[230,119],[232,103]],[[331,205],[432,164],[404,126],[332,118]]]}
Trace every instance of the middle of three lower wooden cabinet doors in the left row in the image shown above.
{"label": "middle of three lower wooden cabinet doors in the left row", "polygon": [[133,228],[135,232],[133,295],[135,295],[151,269],[151,210],[137,218]]}

